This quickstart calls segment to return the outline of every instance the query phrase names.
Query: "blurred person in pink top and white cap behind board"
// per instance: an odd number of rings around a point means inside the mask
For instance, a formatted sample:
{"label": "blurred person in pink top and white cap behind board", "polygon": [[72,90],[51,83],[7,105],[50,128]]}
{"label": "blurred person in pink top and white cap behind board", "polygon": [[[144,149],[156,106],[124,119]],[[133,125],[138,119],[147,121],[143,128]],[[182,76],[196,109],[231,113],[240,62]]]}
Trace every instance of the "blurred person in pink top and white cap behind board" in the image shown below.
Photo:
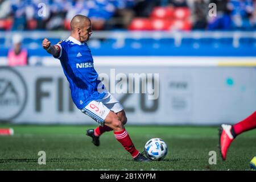
{"label": "blurred person in pink top and white cap behind board", "polygon": [[22,48],[22,36],[15,34],[13,36],[13,48],[8,52],[9,66],[27,65],[27,50]]}

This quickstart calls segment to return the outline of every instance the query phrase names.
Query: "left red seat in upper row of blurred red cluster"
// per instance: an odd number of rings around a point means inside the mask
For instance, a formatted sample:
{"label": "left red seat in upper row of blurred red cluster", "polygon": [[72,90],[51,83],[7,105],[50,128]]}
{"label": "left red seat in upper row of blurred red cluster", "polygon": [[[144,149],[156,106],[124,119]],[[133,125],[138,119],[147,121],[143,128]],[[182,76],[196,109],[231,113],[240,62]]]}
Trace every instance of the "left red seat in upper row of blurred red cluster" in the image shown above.
{"label": "left red seat in upper row of blurred red cluster", "polygon": [[155,7],[151,12],[151,18],[172,18],[174,9],[172,7]]}

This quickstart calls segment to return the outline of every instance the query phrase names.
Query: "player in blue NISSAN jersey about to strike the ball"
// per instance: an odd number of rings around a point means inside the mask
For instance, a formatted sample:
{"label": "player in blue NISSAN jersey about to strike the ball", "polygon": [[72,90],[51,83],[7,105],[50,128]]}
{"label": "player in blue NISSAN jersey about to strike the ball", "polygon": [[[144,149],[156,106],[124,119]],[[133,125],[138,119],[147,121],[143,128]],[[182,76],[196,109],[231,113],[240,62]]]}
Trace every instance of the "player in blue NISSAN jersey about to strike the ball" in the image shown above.
{"label": "player in blue NISSAN jersey about to strike the ball", "polygon": [[147,162],[149,159],[136,150],[125,130],[127,118],[122,105],[98,80],[92,54],[86,44],[91,35],[90,19],[84,15],[76,15],[71,20],[71,36],[68,39],[54,46],[51,46],[48,39],[44,39],[42,46],[60,60],[77,108],[100,124],[96,129],[86,131],[86,135],[92,137],[93,143],[99,146],[100,135],[113,130],[115,138],[130,152],[135,161]]}

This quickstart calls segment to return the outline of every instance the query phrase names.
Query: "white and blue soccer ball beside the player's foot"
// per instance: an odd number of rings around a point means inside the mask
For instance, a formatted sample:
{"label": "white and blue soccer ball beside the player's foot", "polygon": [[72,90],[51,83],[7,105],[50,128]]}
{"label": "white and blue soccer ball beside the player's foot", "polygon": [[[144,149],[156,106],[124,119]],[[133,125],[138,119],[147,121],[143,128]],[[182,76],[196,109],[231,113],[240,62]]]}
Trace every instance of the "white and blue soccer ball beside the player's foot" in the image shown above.
{"label": "white and blue soccer ball beside the player's foot", "polygon": [[148,159],[159,161],[167,154],[167,144],[160,138],[152,138],[145,144],[144,151]]}

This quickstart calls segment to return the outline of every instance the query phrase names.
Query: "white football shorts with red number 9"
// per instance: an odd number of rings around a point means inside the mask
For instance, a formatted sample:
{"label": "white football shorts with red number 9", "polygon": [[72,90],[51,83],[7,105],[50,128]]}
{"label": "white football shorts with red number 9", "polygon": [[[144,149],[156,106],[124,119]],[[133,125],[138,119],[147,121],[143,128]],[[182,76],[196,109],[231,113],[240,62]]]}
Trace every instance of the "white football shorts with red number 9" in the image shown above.
{"label": "white football shorts with red number 9", "polygon": [[89,115],[89,117],[93,118],[99,125],[103,126],[110,110],[114,113],[118,113],[123,110],[123,106],[111,93],[107,92],[101,100],[91,101],[81,109],[81,112]]}

